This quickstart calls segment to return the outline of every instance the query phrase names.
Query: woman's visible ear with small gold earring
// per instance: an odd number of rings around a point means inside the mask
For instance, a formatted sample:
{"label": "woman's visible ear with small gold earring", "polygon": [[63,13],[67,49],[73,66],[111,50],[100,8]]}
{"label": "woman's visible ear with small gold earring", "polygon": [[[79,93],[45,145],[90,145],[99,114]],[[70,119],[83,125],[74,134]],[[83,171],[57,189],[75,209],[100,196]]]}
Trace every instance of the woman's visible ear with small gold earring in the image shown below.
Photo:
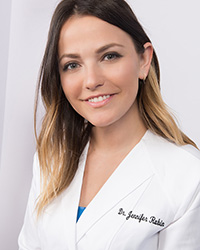
{"label": "woman's visible ear with small gold earring", "polygon": [[150,65],[151,60],[153,56],[153,46],[151,43],[147,42],[144,44],[144,53],[141,54],[141,61],[140,61],[140,72],[139,72],[139,78],[140,79],[146,79]]}

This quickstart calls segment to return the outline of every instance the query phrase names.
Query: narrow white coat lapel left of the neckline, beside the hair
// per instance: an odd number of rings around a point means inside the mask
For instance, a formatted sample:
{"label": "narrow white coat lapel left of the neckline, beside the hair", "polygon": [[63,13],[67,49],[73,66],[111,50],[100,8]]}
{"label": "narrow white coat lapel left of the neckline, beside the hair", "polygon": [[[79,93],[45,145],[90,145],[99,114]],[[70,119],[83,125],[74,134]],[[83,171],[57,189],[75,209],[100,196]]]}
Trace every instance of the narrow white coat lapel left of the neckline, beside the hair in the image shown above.
{"label": "narrow white coat lapel left of the neckline, beside the hair", "polygon": [[[79,161],[79,167],[70,186],[62,194],[62,215],[65,215],[63,223],[66,223],[66,241],[68,249],[76,249],[76,219],[81,193],[81,186],[84,174],[84,167],[87,157],[88,145]],[[66,212],[67,211],[67,212]]]}

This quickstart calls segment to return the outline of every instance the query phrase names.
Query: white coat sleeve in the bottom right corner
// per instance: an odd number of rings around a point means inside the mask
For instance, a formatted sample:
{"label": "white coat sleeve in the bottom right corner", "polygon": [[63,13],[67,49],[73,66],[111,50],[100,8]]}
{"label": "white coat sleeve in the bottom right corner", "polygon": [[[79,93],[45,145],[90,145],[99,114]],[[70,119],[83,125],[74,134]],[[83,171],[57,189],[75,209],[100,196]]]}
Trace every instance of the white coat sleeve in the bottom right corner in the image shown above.
{"label": "white coat sleeve in the bottom right corner", "polygon": [[159,250],[200,250],[200,184],[188,210],[159,234]]}

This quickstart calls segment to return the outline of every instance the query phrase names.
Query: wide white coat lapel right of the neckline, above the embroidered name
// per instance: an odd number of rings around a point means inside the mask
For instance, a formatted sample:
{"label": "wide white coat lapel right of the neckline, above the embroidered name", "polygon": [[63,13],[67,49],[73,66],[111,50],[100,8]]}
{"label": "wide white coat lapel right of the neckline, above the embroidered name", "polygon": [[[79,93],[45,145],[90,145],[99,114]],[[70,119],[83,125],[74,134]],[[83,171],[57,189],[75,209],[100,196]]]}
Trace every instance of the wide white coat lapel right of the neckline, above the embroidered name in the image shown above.
{"label": "wide white coat lapel right of the neckline, above the embroidered name", "polygon": [[136,204],[154,175],[142,140],[121,162],[98,194],[87,206],[77,223],[77,242],[110,209],[128,194],[135,192],[132,202]]}

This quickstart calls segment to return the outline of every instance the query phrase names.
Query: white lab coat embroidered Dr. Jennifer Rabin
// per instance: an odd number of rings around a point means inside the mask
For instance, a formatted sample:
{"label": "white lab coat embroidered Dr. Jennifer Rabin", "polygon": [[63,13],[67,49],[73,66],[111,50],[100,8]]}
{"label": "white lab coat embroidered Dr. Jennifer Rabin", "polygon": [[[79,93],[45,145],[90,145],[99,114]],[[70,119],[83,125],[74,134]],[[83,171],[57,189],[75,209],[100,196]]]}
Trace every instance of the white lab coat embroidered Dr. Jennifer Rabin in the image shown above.
{"label": "white lab coat embroidered Dr. Jennifer Rabin", "polygon": [[20,250],[200,250],[200,153],[147,131],[76,223],[86,146],[74,180],[36,220],[39,164]]}

